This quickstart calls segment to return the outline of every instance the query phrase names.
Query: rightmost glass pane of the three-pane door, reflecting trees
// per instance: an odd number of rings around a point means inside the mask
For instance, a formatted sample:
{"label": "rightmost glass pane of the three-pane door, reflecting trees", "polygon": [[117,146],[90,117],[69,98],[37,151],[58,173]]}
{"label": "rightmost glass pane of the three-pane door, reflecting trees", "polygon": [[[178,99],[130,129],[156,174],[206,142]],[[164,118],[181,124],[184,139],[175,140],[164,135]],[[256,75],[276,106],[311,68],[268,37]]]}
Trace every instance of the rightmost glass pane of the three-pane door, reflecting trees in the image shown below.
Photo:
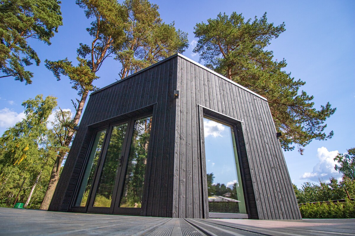
{"label": "rightmost glass pane of the three-pane door, reflecting trees", "polygon": [[141,207],[152,117],[136,120],[120,207]]}

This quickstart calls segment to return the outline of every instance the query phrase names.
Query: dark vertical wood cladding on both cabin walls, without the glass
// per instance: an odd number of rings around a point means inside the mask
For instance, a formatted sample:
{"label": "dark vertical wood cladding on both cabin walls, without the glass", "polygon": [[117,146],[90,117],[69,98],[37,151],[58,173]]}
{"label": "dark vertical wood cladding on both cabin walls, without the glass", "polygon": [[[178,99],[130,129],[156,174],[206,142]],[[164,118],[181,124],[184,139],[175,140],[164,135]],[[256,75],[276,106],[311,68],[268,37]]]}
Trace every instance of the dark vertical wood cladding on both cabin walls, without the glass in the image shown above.
{"label": "dark vertical wood cladding on both cabin walls, without the glass", "polygon": [[95,128],[151,111],[142,215],[207,218],[206,109],[242,121],[236,129],[249,217],[300,219],[267,101],[180,54],[91,94],[49,210],[76,211],[71,204]]}

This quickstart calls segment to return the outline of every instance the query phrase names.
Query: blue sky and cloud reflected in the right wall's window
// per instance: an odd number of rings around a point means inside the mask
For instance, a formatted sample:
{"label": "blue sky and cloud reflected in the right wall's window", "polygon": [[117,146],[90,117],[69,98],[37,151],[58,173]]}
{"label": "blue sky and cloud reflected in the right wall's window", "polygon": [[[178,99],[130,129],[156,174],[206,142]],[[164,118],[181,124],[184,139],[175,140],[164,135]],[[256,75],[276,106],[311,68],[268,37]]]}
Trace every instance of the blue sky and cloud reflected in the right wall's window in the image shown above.
{"label": "blue sky and cloud reflected in the right wall's window", "polygon": [[213,183],[233,188],[237,182],[231,127],[203,118],[206,172],[213,173]]}

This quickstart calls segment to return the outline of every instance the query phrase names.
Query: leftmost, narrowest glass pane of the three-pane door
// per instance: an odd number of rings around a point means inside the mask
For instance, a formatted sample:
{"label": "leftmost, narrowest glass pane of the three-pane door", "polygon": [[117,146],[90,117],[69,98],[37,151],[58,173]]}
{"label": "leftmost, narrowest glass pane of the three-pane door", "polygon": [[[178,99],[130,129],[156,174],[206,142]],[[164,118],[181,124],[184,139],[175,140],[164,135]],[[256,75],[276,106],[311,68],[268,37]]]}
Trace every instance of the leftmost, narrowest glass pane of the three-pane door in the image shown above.
{"label": "leftmost, narrowest glass pane of the three-pane door", "polygon": [[79,194],[75,206],[80,206],[80,207],[86,206],[86,202],[89,196],[89,191],[92,185],[92,180],[94,177],[94,172],[97,166],[97,162],[99,160],[102,144],[104,142],[105,134],[106,134],[106,130],[99,131],[96,134],[94,145],[92,147],[92,151],[89,157],[86,171],[84,173],[83,181],[81,183],[81,187],[79,190]]}

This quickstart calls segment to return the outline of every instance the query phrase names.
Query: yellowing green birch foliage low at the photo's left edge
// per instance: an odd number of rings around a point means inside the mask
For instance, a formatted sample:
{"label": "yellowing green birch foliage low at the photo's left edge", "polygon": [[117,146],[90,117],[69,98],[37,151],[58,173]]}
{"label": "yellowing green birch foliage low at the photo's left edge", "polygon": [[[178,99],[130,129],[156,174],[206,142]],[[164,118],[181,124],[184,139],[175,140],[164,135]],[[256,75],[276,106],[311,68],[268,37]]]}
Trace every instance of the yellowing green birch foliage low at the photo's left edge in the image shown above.
{"label": "yellowing green birch foliage low at the photo's left edge", "polygon": [[24,179],[19,202],[26,202],[38,175],[41,178],[32,198],[32,206],[29,207],[38,207],[42,202],[50,166],[57,154],[56,144],[51,142],[53,138],[47,129],[47,119],[56,104],[56,98],[51,96],[43,99],[42,95],[37,95],[35,99],[28,99],[22,104],[25,119],[7,129],[1,136],[1,206],[12,206]]}

